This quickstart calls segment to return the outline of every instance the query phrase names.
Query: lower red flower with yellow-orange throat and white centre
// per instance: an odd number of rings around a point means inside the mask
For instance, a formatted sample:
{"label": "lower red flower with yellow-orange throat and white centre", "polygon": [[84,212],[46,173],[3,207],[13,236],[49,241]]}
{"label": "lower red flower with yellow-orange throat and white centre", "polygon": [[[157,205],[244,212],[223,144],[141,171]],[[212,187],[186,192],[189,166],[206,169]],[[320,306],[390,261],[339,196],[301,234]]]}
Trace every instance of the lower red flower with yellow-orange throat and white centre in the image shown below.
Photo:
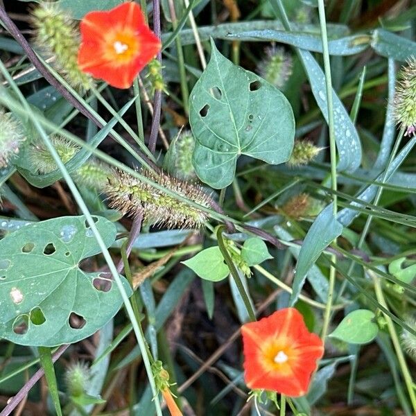
{"label": "lower red flower with yellow-orange throat and white centre", "polygon": [[298,397],[309,388],[316,361],[324,354],[322,340],[306,328],[300,312],[281,309],[241,327],[245,383],[251,389],[273,390]]}

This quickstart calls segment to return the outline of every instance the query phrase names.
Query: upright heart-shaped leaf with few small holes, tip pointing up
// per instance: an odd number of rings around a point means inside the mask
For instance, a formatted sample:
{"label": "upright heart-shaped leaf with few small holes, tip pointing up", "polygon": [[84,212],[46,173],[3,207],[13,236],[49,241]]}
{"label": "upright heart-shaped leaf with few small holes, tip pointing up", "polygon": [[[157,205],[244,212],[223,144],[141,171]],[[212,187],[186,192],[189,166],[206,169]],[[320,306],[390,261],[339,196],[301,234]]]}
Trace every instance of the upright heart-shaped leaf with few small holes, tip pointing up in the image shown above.
{"label": "upright heart-shaped leaf with few small holes, tip pointing up", "polygon": [[196,138],[196,173],[220,189],[232,183],[240,155],[286,162],[295,119],[279,89],[224,58],[213,40],[211,46],[211,60],[191,92],[189,122]]}

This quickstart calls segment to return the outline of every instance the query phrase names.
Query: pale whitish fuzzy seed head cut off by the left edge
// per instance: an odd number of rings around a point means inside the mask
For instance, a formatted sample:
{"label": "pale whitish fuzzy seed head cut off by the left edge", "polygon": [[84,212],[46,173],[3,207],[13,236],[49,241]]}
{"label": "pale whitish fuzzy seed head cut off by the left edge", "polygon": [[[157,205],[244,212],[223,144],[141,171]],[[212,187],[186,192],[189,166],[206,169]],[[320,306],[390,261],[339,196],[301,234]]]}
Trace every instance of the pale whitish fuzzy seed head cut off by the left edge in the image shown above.
{"label": "pale whitish fuzzy seed head cut off by the left edge", "polygon": [[6,168],[26,140],[24,128],[10,112],[0,109],[0,168]]}

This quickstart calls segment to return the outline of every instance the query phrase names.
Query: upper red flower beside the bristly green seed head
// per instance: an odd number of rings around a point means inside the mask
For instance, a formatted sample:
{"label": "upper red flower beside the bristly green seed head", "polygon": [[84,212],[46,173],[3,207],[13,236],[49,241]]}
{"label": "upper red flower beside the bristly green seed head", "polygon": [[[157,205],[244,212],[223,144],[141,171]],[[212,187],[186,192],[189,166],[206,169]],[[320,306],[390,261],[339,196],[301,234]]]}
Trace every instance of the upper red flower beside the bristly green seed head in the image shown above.
{"label": "upper red flower beside the bristly green seed head", "polygon": [[117,88],[130,87],[161,47],[134,1],[105,12],[87,13],[80,31],[78,65],[81,71]]}

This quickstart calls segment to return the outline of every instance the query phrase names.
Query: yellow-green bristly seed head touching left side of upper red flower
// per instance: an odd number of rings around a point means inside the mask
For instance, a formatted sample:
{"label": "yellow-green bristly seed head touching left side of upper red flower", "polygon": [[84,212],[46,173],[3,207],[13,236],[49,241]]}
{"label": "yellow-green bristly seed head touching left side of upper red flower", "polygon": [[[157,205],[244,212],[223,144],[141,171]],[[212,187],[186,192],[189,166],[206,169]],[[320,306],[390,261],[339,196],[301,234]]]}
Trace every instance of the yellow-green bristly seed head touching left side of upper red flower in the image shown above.
{"label": "yellow-green bristly seed head touching left side of upper red flower", "polygon": [[55,58],[55,68],[68,83],[85,91],[92,87],[92,78],[78,67],[80,34],[71,16],[56,3],[43,1],[33,9],[32,24],[36,44]]}

